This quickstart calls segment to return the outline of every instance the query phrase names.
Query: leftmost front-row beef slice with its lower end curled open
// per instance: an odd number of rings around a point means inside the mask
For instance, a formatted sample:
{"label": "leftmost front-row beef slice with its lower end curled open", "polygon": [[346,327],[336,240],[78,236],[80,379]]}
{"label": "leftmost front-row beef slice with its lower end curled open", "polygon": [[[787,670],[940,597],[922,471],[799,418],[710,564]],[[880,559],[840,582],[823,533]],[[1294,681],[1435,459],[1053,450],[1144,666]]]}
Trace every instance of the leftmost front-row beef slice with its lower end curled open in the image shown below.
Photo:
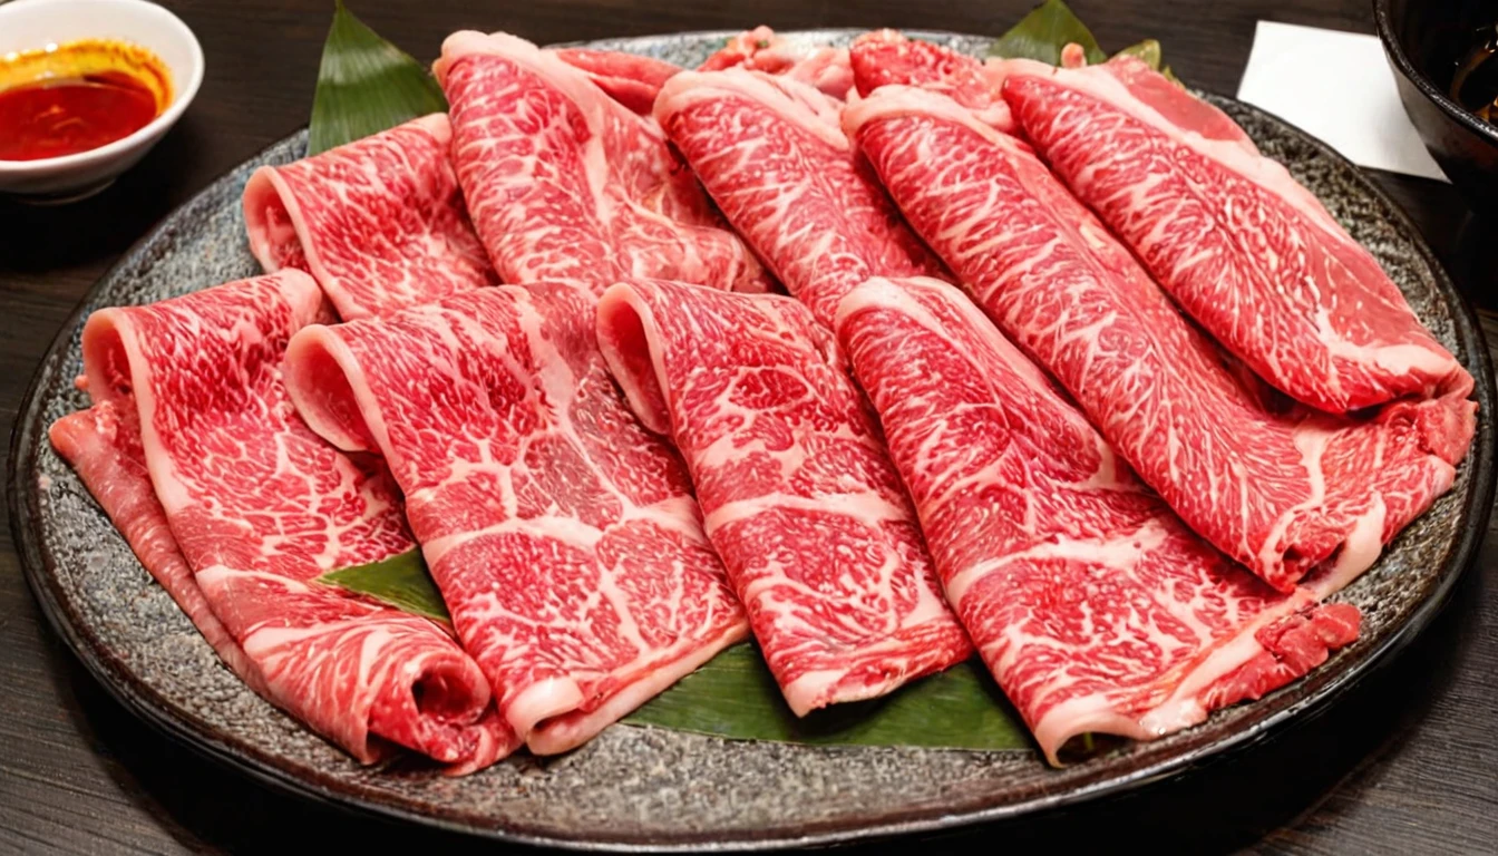
{"label": "leftmost front-row beef slice with its lower end curled open", "polygon": [[[476,769],[514,742],[484,717],[473,660],[437,624],[318,582],[413,547],[388,477],[313,435],[286,396],[288,340],[327,318],[318,285],[291,270],[102,309],[82,337],[94,412],[138,415],[171,535],[268,699],[361,762],[380,757],[380,738]],[[139,495],[127,505],[139,478],[126,475],[102,474],[94,490],[145,547],[154,510]],[[147,549],[162,573],[165,544]],[[172,585],[178,600],[184,591]],[[189,615],[222,649],[216,625]]]}

